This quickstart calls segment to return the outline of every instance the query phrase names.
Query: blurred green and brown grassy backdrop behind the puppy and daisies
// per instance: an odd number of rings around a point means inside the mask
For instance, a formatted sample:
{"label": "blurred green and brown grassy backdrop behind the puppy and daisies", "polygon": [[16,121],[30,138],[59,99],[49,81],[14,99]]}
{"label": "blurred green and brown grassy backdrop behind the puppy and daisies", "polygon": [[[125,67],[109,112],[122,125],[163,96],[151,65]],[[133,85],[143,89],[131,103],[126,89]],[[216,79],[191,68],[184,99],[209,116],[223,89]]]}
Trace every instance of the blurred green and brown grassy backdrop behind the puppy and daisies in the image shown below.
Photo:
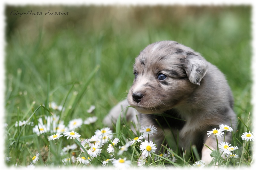
{"label": "blurred green and brown grassy backdrop behind the puppy and daisies", "polygon": [[[10,15],[11,11],[42,15]],[[46,12],[68,15],[45,15]],[[173,40],[201,53],[225,75],[238,116],[251,112],[251,6],[5,6],[6,122],[47,98],[63,104],[100,69],[72,118],[95,105],[100,121],[124,99],[134,58],[148,44]],[[68,106],[65,106],[68,107]],[[246,116],[245,116],[246,117]],[[71,119],[71,118],[70,118]]]}

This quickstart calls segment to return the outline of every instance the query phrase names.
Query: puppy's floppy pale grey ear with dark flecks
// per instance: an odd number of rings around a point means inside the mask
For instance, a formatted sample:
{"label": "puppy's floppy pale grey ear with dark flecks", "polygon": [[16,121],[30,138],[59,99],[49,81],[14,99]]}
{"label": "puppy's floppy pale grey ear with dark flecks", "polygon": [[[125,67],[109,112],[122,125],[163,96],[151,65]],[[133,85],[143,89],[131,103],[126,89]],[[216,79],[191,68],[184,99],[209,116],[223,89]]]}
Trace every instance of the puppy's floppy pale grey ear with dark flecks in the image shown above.
{"label": "puppy's floppy pale grey ear with dark flecks", "polygon": [[200,56],[188,55],[185,70],[189,81],[193,84],[200,85],[200,81],[208,70],[208,65]]}

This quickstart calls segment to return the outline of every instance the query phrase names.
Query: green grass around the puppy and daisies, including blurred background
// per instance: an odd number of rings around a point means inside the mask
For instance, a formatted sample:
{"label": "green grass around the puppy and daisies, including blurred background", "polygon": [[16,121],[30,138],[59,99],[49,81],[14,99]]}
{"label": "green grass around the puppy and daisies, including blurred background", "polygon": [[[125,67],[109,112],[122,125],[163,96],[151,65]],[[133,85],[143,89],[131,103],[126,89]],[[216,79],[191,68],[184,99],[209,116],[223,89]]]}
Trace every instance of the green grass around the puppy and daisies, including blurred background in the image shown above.
{"label": "green grass around the puppy and daisies, including blurred background", "polygon": [[[10,16],[13,10],[68,11],[69,15]],[[28,166],[36,152],[40,153],[40,159],[35,166],[64,166],[61,160],[67,157],[87,158],[78,140],[60,137],[48,141],[52,133],[38,136],[33,128],[45,116],[59,115],[66,126],[70,120],[84,121],[96,116],[96,123],[76,129],[81,138],[91,138],[97,129],[105,127],[102,120],[111,107],[126,97],[134,78],[134,58],[149,43],[161,40],[174,40],[191,47],[226,75],[238,118],[232,146],[239,147],[236,150],[239,158],[219,159],[219,165],[251,166],[251,142],[241,140],[242,133],[252,131],[250,6],[6,6],[5,14],[5,122],[8,126],[4,154],[12,157],[6,162],[8,166]],[[50,108],[51,102],[65,109]],[[87,113],[91,105],[96,109]],[[15,127],[16,121],[23,120],[35,125]],[[113,155],[116,159],[126,157],[137,166],[139,145],[117,155],[118,146],[140,135],[133,134],[130,126],[121,119],[114,125],[113,135],[120,142]],[[62,149],[71,144],[76,144],[77,149],[60,156]],[[109,159],[108,144],[87,166],[101,166],[102,161]],[[192,153],[192,157],[185,158],[173,151],[176,163],[152,154],[153,159],[148,158],[145,166],[191,167],[199,161],[196,151]],[[161,159],[155,161],[154,157]],[[83,164],[75,162],[70,166]]]}

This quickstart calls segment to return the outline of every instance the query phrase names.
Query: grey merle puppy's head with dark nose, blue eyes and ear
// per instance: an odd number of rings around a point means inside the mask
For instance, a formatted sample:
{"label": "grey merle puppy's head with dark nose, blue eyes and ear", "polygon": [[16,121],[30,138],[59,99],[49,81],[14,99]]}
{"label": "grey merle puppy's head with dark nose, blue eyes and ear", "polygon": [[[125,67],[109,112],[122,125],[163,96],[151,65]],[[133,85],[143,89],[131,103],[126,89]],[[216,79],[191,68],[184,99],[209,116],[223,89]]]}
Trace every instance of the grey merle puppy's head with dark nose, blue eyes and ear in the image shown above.
{"label": "grey merle puppy's head with dark nose, blue eyes and ear", "polygon": [[135,59],[127,100],[140,113],[162,113],[184,104],[207,68],[200,54],[175,41],[150,44]]}

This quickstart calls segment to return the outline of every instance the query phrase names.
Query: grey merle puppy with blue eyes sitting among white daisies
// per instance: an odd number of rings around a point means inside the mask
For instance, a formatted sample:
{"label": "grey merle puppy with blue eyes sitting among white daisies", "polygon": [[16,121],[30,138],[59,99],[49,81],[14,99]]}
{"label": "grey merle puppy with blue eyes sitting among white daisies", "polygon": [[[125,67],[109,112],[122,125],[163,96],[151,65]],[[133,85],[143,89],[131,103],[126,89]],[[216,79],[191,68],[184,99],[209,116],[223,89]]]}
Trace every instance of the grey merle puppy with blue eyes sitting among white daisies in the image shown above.
{"label": "grey merle puppy with blue eyes sitting among white daisies", "polygon": [[[207,131],[220,124],[236,125],[232,93],[220,70],[191,48],[175,41],[160,41],[140,52],[133,73],[127,100],[114,107],[104,122],[111,125],[122,108],[130,105],[122,114],[127,112],[126,118],[141,127],[154,125],[157,134],[149,140],[154,137],[158,149],[171,139],[179,140],[183,151],[189,152],[190,145],[196,145],[202,160],[210,163],[212,151],[204,144],[216,150],[217,143]],[[220,143],[223,137],[218,139]],[[231,142],[230,132],[225,142]],[[168,144],[176,146],[173,142]]]}

